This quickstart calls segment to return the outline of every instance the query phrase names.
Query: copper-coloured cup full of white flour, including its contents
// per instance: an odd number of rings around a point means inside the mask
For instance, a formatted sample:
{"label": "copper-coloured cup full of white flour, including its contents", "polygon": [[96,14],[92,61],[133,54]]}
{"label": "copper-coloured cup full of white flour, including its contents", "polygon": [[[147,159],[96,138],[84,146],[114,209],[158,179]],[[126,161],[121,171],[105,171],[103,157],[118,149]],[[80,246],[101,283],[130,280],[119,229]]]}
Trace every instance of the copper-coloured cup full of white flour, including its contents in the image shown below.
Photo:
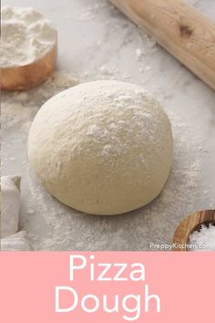
{"label": "copper-coloured cup full of white flour, including its contents", "polygon": [[4,6],[1,37],[1,89],[28,89],[56,67],[56,29],[32,8]]}

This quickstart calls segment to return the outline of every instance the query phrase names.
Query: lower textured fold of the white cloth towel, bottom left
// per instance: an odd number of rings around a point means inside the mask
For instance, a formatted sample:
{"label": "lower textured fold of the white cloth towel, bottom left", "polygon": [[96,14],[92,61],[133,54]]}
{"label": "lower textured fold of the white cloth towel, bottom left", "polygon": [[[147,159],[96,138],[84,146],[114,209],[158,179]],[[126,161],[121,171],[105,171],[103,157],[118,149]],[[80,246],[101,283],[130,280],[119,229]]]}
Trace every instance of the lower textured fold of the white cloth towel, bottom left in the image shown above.
{"label": "lower textured fold of the white cloth towel, bottom left", "polygon": [[1,239],[1,251],[31,251],[31,246],[26,239],[26,231]]}

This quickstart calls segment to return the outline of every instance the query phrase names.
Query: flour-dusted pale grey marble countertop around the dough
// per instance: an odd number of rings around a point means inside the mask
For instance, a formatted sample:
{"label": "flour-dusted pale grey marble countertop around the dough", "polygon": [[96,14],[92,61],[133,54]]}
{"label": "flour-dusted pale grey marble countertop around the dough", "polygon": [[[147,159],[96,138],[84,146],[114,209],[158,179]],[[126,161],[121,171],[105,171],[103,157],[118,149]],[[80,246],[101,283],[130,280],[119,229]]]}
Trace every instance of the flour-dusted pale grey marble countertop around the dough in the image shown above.
{"label": "flour-dusted pale grey marble countertop around the dough", "polygon": [[[213,0],[189,0],[215,22]],[[116,78],[148,89],[173,125],[174,162],[159,198],[135,212],[94,216],[58,203],[29,169],[27,133],[37,109],[72,80],[2,95],[2,172],[22,175],[20,229],[34,250],[149,250],[169,244],[186,214],[215,208],[215,94],[106,0],[4,0],[32,6],[58,31],[57,70],[80,81]],[[152,250],[156,249],[151,247]]]}

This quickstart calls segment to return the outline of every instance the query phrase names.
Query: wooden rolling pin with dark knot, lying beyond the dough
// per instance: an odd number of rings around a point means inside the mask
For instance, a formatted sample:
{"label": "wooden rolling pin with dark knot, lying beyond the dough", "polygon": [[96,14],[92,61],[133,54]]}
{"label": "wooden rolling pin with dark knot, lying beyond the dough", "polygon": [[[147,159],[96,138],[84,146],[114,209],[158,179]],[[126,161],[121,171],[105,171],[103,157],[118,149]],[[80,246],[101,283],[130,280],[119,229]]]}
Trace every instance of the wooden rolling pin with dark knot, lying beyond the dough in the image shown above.
{"label": "wooden rolling pin with dark knot, lying beyond the dough", "polygon": [[215,25],[180,0],[111,0],[162,47],[215,89]]}

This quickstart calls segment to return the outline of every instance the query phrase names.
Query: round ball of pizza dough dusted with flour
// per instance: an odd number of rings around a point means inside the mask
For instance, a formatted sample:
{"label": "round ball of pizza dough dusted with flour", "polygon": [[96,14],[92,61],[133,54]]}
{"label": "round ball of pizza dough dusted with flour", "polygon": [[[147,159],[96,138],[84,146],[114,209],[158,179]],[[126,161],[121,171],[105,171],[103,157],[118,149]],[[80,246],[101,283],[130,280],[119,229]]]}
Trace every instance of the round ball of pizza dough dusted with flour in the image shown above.
{"label": "round ball of pizza dough dusted with flour", "polygon": [[133,84],[77,85],[36,114],[29,161],[46,191],[87,214],[123,214],[152,201],[172,162],[169,118]]}

